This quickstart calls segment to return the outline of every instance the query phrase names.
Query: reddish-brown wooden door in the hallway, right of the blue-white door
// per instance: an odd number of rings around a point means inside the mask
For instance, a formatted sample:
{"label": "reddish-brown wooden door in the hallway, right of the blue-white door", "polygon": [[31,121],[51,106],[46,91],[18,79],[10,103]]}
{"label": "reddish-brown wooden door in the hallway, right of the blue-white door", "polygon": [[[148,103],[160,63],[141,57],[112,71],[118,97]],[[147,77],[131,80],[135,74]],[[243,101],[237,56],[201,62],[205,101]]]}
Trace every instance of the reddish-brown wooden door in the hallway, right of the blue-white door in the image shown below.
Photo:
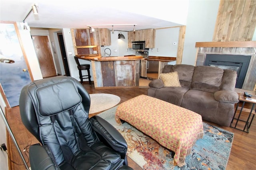
{"label": "reddish-brown wooden door in the hallway, right of the blue-white door", "polygon": [[56,76],[48,36],[32,35],[32,39],[43,78]]}

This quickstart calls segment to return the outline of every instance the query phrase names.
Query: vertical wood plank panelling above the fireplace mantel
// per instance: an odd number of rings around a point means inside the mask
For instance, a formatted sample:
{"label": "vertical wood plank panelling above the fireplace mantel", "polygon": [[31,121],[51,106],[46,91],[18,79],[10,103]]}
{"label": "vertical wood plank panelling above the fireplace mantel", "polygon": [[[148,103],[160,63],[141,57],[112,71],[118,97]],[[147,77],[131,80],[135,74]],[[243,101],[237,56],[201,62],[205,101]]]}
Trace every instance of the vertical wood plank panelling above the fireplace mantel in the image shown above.
{"label": "vertical wood plank panelling above the fireplace mantel", "polygon": [[256,0],[220,0],[212,41],[252,41]]}

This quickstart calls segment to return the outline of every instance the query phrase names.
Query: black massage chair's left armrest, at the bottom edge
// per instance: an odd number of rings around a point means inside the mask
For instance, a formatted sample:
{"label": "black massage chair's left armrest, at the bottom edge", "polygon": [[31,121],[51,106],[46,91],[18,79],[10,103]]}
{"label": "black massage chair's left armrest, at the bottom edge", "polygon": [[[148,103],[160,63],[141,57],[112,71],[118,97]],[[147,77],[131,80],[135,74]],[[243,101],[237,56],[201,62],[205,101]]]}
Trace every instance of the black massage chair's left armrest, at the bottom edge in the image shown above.
{"label": "black massage chair's left armrest, at the bottom edge", "polygon": [[60,170],[47,146],[30,146],[29,159],[32,170]]}

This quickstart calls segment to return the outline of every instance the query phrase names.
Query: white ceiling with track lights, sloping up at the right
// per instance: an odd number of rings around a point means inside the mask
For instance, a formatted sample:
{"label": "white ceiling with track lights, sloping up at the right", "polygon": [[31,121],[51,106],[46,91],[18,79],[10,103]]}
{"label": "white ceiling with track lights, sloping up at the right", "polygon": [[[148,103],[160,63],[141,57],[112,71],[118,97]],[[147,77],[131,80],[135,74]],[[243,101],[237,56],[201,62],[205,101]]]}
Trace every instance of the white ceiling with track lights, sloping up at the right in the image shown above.
{"label": "white ceiling with track lights, sloping up at the right", "polygon": [[[168,1],[165,2],[164,0],[148,0],[146,1],[147,4],[142,4],[145,1],[71,0],[64,2],[64,0],[0,0],[0,20],[22,22],[32,9],[32,5],[36,3],[38,4],[38,15],[34,15],[31,12],[25,20],[30,27],[61,29],[88,28],[86,25],[110,25],[91,27],[104,27],[111,30],[112,25],[131,24],[114,26],[114,30],[119,31],[132,31],[134,24],[136,24],[136,30],[173,27],[184,24],[177,21],[176,18],[180,17],[181,13],[186,15],[184,10],[187,10],[186,5],[184,8],[184,2],[182,4],[178,3],[178,1],[171,0],[168,3]],[[181,1],[187,2],[188,0]],[[175,6],[170,5],[170,2],[174,3],[176,7],[180,6],[182,10],[177,10]],[[166,3],[170,5],[168,9],[166,9]],[[172,21],[169,16],[172,16],[173,20],[176,21]]]}

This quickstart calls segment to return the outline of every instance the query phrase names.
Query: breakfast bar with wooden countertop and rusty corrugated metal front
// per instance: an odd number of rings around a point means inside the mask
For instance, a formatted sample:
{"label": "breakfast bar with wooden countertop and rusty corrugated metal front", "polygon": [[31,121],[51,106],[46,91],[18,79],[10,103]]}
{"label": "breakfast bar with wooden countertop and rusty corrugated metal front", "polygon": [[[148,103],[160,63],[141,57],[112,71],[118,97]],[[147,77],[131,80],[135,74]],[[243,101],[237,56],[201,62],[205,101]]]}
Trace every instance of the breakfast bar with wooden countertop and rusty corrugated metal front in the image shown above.
{"label": "breakfast bar with wooden countertop and rusty corrugated metal front", "polygon": [[131,88],[139,86],[140,60],[142,56],[101,57],[81,56],[91,61],[95,89]]}

